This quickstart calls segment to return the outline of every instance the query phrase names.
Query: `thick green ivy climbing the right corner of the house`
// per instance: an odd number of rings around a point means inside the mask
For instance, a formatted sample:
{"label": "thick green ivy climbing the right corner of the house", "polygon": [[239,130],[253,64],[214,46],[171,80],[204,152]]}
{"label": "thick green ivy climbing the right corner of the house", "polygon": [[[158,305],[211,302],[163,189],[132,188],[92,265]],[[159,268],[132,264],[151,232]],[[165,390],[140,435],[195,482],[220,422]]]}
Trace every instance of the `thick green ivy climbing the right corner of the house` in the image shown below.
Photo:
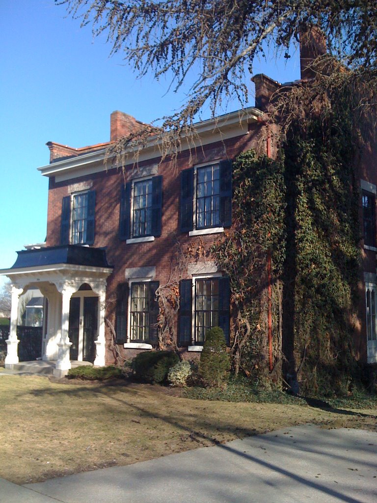
{"label": "thick green ivy climbing the right corner of the house", "polygon": [[281,97],[276,110],[285,127],[276,159],[248,151],[235,160],[235,224],[212,254],[230,277],[235,372],[277,383],[298,374],[301,393],[332,394],[346,393],[358,377],[352,338],[360,301],[361,135],[355,80],[343,78],[340,88],[329,80],[338,77],[326,78]]}

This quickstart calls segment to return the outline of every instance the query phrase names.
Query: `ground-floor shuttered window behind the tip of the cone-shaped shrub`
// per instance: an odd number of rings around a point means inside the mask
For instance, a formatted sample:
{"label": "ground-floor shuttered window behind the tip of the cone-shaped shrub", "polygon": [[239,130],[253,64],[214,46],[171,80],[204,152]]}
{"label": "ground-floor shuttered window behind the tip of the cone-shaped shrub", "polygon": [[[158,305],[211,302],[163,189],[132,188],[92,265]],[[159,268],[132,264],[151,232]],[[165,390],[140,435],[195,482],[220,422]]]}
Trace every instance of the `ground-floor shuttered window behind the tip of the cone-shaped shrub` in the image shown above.
{"label": "ground-floor shuttered window behind the tip of the cone-shaped shrub", "polygon": [[194,277],[179,283],[179,346],[201,346],[214,326],[229,344],[230,288],[228,277]]}

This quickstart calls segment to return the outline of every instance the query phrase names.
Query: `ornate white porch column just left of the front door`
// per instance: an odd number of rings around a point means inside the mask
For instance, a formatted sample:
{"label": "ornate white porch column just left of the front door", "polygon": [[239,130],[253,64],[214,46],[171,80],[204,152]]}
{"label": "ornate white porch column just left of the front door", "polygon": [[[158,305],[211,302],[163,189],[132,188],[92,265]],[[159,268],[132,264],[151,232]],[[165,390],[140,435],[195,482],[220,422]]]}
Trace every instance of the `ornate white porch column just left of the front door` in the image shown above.
{"label": "ornate white porch column just left of the front door", "polygon": [[57,377],[63,377],[67,374],[68,370],[71,368],[71,362],[69,359],[69,350],[72,343],[69,342],[68,328],[69,328],[69,303],[72,294],[76,291],[74,287],[63,285],[63,288],[59,288],[62,297],[62,312],[61,312],[61,337],[58,342],[58,360],[55,365],[54,375]]}

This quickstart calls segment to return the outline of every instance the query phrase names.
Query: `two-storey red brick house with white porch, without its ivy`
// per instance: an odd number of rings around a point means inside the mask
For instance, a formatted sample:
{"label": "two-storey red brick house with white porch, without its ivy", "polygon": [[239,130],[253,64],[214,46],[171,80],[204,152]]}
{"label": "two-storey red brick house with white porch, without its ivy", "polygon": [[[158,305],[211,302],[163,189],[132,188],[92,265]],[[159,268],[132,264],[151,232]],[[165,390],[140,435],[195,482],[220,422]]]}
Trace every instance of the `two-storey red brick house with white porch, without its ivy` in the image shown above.
{"label": "two-storey red brick house with white porch, without its ivy", "polygon": [[[310,58],[313,51],[303,50],[303,79],[311,78]],[[83,148],[47,143],[50,163],[39,168],[49,178],[46,243],[18,252],[14,266],[2,271],[14,285],[7,367],[18,362],[15,313],[31,286],[48,300],[42,359],[56,361],[56,375],[66,374],[71,360],[114,362],[106,318],[113,319],[124,357],[152,349],[158,338],[154,293],[169,279],[177,240],[185,247],[199,238],[204,247],[211,245],[232,225],[232,159],[250,148],[274,155],[269,142],[260,141],[261,118],[280,85],[265,75],[254,82],[257,108],[198,123],[196,136],[182,142],[175,167],[160,162],[153,136],[137,154],[137,169],[131,150],[125,176],[118,166],[106,165],[107,147],[142,126],[119,111],[111,114],[110,142]],[[364,293],[355,350],[368,363],[377,362],[376,152],[371,141],[360,161]],[[220,325],[229,343],[229,281],[214,262],[189,261],[179,294],[177,342],[186,358],[200,354],[211,326]]]}

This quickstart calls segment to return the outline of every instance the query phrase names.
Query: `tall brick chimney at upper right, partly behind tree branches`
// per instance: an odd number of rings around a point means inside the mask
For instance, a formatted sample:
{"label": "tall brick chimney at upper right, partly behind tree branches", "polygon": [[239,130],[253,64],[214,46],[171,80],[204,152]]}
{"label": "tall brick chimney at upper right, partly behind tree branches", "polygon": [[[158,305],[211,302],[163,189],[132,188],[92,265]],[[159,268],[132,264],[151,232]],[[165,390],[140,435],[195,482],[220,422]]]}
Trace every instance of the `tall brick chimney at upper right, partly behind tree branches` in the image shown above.
{"label": "tall brick chimney at upper right, partly behind tree branches", "polygon": [[313,61],[326,52],[325,34],[318,26],[312,26],[309,30],[300,33],[300,67],[303,80],[316,76]]}

